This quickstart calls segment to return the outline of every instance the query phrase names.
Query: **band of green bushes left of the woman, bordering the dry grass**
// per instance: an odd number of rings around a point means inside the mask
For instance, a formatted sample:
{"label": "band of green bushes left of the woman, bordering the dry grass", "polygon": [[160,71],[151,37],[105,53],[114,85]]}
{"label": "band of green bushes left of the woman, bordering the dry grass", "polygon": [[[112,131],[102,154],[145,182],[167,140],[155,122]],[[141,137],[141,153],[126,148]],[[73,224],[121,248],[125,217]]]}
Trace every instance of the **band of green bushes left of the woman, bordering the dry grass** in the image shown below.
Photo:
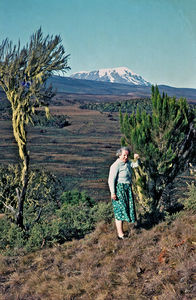
{"label": "band of green bushes left of the woman, bordering the dry grass", "polygon": [[[24,228],[14,222],[14,190],[20,185],[20,168],[9,165],[0,169],[0,252],[18,255],[44,246],[80,239],[97,222],[111,222],[111,203],[95,203],[85,192],[64,191],[60,178],[43,170],[29,173],[24,206]],[[16,197],[16,196],[15,196]],[[13,211],[10,212],[10,207]]]}

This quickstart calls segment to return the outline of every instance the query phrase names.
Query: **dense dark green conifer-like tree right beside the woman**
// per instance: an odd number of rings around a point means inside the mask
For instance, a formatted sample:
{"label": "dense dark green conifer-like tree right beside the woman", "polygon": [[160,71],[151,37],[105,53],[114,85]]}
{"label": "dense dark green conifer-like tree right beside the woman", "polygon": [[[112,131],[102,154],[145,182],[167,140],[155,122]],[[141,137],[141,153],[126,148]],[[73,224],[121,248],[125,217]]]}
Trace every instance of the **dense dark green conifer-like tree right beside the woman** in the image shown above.
{"label": "dense dark green conifer-like tree right beside the woman", "polygon": [[195,146],[195,114],[185,99],[176,100],[152,86],[152,113],[120,113],[122,144],[140,154],[135,192],[144,211],[155,212],[166,187],[189,162]]}

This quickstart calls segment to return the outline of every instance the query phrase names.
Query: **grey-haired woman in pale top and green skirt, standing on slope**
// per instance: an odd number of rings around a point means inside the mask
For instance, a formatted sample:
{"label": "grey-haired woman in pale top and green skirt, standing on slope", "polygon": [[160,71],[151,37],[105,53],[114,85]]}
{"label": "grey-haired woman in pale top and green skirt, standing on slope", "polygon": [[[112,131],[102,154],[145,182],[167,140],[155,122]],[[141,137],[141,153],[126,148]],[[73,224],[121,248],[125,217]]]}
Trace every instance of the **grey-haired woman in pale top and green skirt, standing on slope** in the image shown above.
{"label": "grey-haired woman in pale top and green skirt, standing on slope", "polygon": [[108,184],[115,215],[115,224],[118,239],[125,238],[123,232],[123,221],[135,223],[136,213],[131,190],[132,168],[138,167],[139,155],[134,154],[136,162],[128,160],[130,150],[122,147],[116,153],[118,159],[111,165]]}

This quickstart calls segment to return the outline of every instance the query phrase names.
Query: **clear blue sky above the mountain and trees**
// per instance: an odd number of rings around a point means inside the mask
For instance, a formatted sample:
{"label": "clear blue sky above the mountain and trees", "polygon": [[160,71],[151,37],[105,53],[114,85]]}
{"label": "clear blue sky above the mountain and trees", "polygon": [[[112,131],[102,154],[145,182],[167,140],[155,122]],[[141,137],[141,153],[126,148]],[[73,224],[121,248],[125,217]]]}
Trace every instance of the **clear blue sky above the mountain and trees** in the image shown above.
{"label": "clear blue sky above the mountain and trees", "polygon": [[60,34],[71,71],[128,67],[196,88],[196,0],[0,0],[0,41]]}

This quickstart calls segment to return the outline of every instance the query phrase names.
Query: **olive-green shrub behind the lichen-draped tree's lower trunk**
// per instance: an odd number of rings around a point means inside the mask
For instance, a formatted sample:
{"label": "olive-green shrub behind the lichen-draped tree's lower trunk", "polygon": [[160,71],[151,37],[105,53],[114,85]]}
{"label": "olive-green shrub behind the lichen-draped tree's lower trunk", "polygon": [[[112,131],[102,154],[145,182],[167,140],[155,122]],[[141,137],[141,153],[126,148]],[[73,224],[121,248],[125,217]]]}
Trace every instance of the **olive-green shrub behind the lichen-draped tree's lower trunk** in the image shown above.
{"label": "olive-green shrub behind the lichen-draped tree's lower trunk", "polygon": [[[0,166],[0,211],[9,214],[10,218],[12,218],[12,215],[4,204],[17,209],[16,188],[20,189],[20,187],[19,166]],[[60,205],[59,198],[62,191],[63,184],[58,177],[45,170],[31,170],[24,206],[25,226],[28,226],[37,218],[40,209],[42,209],[42,215],[52,215]]]}

